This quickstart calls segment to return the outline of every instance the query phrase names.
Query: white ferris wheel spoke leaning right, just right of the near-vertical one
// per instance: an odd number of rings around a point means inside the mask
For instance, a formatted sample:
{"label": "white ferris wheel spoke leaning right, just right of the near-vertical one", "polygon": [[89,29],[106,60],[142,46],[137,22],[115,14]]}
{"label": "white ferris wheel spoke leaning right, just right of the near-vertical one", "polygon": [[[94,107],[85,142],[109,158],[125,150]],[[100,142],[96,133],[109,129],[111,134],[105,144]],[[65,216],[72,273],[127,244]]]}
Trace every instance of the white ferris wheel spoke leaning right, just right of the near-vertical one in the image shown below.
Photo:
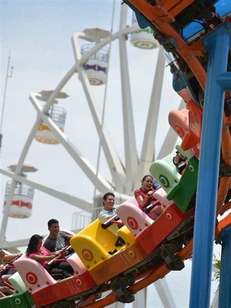
{"label": "white ferris wheel spoke leaning right, just right of the near-vertical one", "polygon": [[150,164],[154,161],[155,156],[155,137],[158,123],[159,106],[164,78],[164,49],[159,48],[157,64],[155,68],[155,77],[153,82],[152,95],[150,99],[148,117],[146,122],[145,134],[143,139],[142,151],[139,162],[138,175],[149,173]]}

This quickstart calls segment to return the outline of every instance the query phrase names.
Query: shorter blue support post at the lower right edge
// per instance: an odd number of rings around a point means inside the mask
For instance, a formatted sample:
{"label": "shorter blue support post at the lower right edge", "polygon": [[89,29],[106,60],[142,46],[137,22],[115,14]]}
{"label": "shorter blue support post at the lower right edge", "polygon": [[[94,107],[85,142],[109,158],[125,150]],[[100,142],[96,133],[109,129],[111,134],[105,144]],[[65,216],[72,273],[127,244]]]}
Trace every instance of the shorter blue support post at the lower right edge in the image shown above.
{"label": "shorter blue support post at the lower right edge", "polygon": [[219,284],[219,308],[231,308],[231,225],[219,237],[221,241],[221,272]]}

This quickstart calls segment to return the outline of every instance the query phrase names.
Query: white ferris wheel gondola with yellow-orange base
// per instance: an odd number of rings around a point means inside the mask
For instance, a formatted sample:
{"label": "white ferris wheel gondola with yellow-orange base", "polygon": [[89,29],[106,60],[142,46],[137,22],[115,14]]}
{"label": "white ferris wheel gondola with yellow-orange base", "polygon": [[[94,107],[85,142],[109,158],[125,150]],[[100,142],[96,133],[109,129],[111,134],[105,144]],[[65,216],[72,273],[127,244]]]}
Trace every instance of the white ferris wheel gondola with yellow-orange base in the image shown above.
{"label": "white ferris wheel gondola with yellow-orange base", "polygon": [[[56,123],[61,131],[64,131],[64,125],[66,120],[66,109],[63,107],[52,105],[48,110],[48,116]],[[45,123],[41,123],[36,132],[35,139],[39,142],[46,144],[58,144],[59,141],[55,135],[50,131],[49,127]]]}

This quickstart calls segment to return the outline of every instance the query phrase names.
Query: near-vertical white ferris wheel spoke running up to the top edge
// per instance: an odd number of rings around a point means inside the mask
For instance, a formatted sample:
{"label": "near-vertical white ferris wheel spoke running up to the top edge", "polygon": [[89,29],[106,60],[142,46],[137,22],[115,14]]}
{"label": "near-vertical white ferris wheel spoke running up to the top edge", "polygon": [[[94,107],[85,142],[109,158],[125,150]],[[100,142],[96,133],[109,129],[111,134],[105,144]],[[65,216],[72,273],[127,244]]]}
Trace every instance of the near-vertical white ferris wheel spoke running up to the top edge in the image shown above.
{"label": "near-vertical white ferris wheel spoke running up to the top edge", "polygon": [[122,33],[126,27],[127,6],[121,5],[120,25],[121,34],[119,36],[119,56],[120,56],[120,76],[123,106],[123,132],[124,150],[127,180],[134,180],[138,167],[138,154],[135,142],[135,126],[133,117],[133,106],[131,87],[128,70],[128,57],[126,48],[126,36]]}

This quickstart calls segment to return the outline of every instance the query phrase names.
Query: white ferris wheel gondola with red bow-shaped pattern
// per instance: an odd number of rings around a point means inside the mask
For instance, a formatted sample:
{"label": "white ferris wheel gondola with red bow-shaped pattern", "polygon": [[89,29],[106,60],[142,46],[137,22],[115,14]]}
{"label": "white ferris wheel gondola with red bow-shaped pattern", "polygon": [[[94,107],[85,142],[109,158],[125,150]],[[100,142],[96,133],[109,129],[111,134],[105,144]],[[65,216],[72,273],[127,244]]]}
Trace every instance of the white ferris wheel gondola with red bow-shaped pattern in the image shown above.
{"label": "white ferris wheel gondola with red bow-shaped pattern", "polygon": [[[6,182],[4,207],[6,204],[7,196],[9,195],[11,181]],[[17,182],[14,197],[10,206],[10,217],[14,218],[28,218],[32,212],[32,202],[34,196],[34,189]],[[4,208],[3,208],[4,212]]]}

